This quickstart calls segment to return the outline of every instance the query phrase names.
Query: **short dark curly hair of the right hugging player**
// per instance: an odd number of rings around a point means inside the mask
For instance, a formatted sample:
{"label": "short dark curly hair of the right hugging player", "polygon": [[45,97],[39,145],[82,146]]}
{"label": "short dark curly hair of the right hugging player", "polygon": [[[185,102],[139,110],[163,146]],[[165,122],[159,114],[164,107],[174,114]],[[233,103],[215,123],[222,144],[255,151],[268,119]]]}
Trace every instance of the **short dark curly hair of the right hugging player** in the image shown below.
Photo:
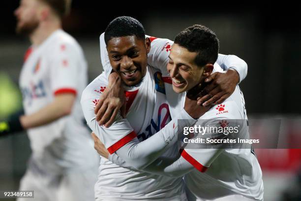
{"label": "short dark curly hair of the right hugging player", "polygon": [[189,52],[198,52],[195,64],[199,67],[214,64],[217,60],[219,41],[215,33],[203,25],[184,29],[176,36],[175,43]]}

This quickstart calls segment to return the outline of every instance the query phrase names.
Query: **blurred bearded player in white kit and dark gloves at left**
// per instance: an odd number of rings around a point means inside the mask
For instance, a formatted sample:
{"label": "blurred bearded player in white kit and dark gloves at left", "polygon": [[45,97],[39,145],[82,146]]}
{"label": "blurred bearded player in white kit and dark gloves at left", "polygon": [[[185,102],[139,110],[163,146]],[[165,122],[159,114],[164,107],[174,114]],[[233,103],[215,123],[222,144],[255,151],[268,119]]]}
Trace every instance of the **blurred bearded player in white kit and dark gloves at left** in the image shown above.
{"label": "blurred bearded player in white kit and dark gloves at left", "polygon": [[71,0],[21,0],[14,12],[16,32],[31,42],[19,79],[24,114],[0,122],[0,136],[27,130],[32,154],[20,190],[33,190],[34,201],[94,200],[99,159],[80,107],[87,63],[61,25],[70,6]]}

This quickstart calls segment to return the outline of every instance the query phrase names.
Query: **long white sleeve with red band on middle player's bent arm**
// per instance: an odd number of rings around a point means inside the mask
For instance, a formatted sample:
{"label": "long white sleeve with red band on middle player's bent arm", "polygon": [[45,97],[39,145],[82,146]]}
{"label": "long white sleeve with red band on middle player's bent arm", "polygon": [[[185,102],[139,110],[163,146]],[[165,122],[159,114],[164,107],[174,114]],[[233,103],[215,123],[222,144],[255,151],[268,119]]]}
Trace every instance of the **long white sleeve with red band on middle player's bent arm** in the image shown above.
{"label": "long white sleeve with red band on middle player's bent arm", "polygon": [[116,153],[126,163],[132,164],[137,169],[148,166],[173,146],[178,141],[178,128],[181,129],[196,122],[182,109],[177,119],[184,119],[183,122],[178,124],[177,120],[171,121],[159,132],[142,142],[138,140],[129,122],[122,119],[120,114],[109,128],[99,126],[94,114],[94,107],[101,91],[106,87],[107,81],[104,73],[96,79],[84,90],[81,99],[86,121],[110,154]]}

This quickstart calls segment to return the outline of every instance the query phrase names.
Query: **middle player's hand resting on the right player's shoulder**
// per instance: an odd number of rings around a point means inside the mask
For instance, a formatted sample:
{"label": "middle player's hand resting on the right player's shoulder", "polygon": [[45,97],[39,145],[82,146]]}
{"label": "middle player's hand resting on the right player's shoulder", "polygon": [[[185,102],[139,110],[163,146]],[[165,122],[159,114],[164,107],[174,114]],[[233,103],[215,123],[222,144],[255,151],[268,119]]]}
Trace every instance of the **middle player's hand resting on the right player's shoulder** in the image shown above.
{"label": "middle player's hand resting on the right player's shoulder", "polygon": [[234,92],[236,85],[239,83],[240,76],[238,72],[229,68],[224,72],[214,72],[205,79],[206,86],[198,95],[197,104],[208,106],[210,104],[219,104],[229,98]]}

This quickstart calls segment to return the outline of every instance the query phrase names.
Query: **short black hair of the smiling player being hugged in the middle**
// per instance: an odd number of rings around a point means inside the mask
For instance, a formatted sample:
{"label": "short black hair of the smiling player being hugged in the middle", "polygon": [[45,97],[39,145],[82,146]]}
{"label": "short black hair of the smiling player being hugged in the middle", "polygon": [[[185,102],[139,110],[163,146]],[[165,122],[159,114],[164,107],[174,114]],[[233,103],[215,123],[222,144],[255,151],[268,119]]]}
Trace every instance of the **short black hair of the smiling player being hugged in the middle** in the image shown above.
{"label": "short black hair of the smiling player being hugged in the middle", "polygon": [[128,16],[117,17],[110,22],[105,30],[105,43],[113,37],[135,35],[138,39],[145,39],[145,29],[135,18]]}

